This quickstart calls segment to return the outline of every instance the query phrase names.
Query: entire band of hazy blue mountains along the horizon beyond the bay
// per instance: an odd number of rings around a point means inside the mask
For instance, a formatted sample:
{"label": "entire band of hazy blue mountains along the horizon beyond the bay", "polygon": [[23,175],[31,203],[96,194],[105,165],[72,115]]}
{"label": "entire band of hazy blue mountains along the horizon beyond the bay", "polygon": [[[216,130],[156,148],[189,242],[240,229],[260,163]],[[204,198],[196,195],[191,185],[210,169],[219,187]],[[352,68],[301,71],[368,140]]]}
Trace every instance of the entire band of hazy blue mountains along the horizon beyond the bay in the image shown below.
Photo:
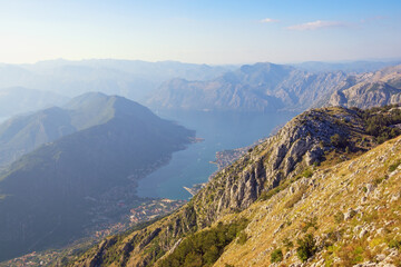
{"label": "entire band of hazy blue mountains along the horizon beyond the bay", "polygon": [[317,107],[316,103],[326,102],[332,92],[353,86],[348,83],[354,79],[352,77],[398,63],[207,66],[176,61],[59,59],[33,65],[0,65],[0,119],[59,106],[88,91],[123,96],[155,110],[303,111],[312,103]]}

